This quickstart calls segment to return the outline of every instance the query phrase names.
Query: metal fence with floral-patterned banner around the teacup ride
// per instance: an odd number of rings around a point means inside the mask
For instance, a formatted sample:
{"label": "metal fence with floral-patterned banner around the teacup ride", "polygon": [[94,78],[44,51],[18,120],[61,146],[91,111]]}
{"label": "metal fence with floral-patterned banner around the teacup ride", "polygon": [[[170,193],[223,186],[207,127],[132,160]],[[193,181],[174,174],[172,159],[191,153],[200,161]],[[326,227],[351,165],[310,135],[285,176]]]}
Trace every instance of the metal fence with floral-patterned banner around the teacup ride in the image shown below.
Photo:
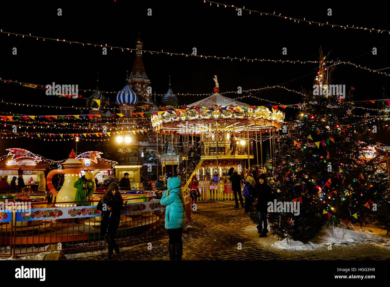
{"label": "metal fence with floral-patterned banner around the teacup ride", "polygon": [[[160,204],[160,200],[149,201],[152,198],[127,204],[117,230],[118,243],[150,240],[167,235],[165,207]],[[186,218],[186,225],[189,225],[191,220],[188,198],[186,197],[186,217],[187,214],[189,216]],[[62,203],[70,205],[69,202]],[[0,255],[15,257],[51,250],[106,246],[100,227],[101,212],[96,206],[40,208],[31,209],[30,213],[16,210],[6,214],[7,216],[4,216],[3,212],[0,219]]]}

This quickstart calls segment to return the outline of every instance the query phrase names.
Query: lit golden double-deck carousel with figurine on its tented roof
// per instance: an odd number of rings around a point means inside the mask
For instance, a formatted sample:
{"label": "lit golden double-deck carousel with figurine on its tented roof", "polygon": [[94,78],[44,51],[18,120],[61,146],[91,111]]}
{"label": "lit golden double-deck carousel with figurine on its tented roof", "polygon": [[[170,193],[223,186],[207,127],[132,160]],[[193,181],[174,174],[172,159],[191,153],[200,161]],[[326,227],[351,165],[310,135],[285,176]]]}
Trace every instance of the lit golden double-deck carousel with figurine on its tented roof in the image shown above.
{"label": "lit golden double-deck carousel with figurine on its tented roof", "polygon": [[[275,146],[275,138],[284,121],[284,113],[264,106],[248,106],[218,93],[217,77],[214,94],[187,105],[184,108],[167,107],[165,111],[154,112],[151,118],[156,132],[163,135],[163,141],[173,142],[181,137],[183,162],[177,167],[184,183],[196,175],[202,181],[202,188],[208,193],[209,181],[215,172],[220,176],[218,189],[226,192],[225,176],[229,168],[239,173],[250,168],[254,154],[261,155],[262,137],[269,135],[269,146]],[[257,146],[257,142],[260,146]],[[269,151],[272,164],[272,148]],[[263,161],[257,164],[263,168]],[[255,162],[254,162],[255,163]],[[172,164],[173,162],[169,162]],[[186,191],[184,184],[183,191]],[[219,196],[218,196],[219,197]],[[223,197],[223,196],[222,196]],[[207,197],[206,197],[207,200]]]}

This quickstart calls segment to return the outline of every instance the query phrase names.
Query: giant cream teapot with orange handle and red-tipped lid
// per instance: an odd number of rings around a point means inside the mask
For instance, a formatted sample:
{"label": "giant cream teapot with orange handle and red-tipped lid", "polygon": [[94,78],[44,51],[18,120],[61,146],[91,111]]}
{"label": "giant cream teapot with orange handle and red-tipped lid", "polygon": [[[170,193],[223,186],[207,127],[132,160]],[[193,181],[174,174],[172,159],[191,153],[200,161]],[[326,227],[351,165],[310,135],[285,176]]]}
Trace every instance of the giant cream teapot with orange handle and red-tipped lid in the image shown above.
{"label": "giant cream teapot with orange handle and red-tipped lid", "polygon": [[[69,155],[69,159],[67,159],[62,164],[62,166],[64,166],[63,169],[53,169],[48,174],[46,178],[48,189],[57,198],[56,202],[58,203],[55,204],[56,207],[76,206],[77,204],[74,203],[74,198],[76,197],[77,189],[73,185],[81,175],[80,168],[82,167],[82,162],[76,159],[76,154],[74,153],[73,149]],[[92,172],[94,176],[97,173],[99,173],[99,169],[96,169]],[[51,183],[51,179],[56,174],[63,174],[65,176],[64,185],[62,185],[60,191],[58,192]]]}

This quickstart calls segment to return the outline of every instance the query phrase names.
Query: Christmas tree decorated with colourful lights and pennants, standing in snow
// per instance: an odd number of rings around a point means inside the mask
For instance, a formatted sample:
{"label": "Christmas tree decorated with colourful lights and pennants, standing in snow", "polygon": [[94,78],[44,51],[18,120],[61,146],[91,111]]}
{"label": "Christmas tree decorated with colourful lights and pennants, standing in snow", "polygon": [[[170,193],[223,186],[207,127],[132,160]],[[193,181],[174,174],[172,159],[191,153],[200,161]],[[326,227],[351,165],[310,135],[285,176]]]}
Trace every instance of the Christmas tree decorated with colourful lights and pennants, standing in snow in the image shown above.
{"label": "Christmas tree decorated with colourful lights and pennants, standing in snow", "polygon": [[270,185],[278,201],[297,208],[268,213],[280,239],[307,242],[323,226],[362,226],[384,213],[388,178],[376,171],[379,158],[369,149],[371,116],[358,114],[351,90],[330,85],[330,74],[321,55],[314,90],[278,139]]}

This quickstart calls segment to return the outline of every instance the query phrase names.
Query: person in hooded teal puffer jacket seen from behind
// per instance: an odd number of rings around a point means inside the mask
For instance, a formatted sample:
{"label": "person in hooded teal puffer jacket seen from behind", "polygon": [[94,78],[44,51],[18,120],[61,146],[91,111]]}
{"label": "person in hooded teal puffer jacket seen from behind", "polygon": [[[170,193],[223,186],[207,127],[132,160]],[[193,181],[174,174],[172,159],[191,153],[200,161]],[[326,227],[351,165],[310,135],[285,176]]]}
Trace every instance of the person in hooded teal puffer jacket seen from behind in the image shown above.
{"label": "person in hooded teal puffer jacket seen from behind", "polygon": [[183,255],[183,242],[181,235],[186,223],[186,214],[184,209],[184,197],[181,194],[181,179],[170,177],[167,182],[167,191],[160,200],[161,205],[167,207],[165,212],[165,228],[169,235],[169,258],[170,260],[181,260]]}

